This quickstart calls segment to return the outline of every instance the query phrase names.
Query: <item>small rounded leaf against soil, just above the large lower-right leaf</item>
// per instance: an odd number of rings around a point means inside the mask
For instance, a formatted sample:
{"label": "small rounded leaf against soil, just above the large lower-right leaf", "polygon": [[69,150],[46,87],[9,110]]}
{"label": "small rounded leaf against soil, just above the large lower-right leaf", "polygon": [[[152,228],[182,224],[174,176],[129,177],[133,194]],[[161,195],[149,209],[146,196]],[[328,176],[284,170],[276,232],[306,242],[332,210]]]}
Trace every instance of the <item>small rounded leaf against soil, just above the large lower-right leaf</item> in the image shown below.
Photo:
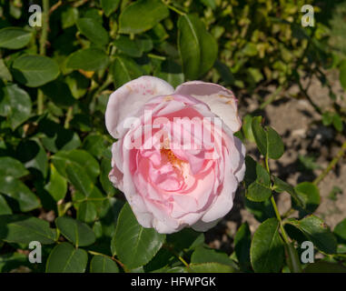
{"label": "small rounded leaf against soil, just above the large lower-right leaf", "polygon": [[320,190],[311,182],[302,182],[294,187],[295,192],[300,196],[300,200],[305,201],[303,208],[309,213],[314,212],[320,205]]}

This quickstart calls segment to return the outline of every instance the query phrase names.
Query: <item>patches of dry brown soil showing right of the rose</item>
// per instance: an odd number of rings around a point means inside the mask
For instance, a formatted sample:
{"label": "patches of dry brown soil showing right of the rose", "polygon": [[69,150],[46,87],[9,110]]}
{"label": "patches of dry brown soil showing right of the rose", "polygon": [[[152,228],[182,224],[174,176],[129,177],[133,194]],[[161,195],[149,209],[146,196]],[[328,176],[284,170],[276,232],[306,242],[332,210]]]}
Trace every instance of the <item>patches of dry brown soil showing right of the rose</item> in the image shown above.
{"label": "patches of dry brown soil showing right of the rose", "polygon": [[[331,82],[334,94],[338,97],[339,105],[343,103],[342,107],[344,107],[346,94],[341,88],[337,72],[329,73],[328,79]],[[303,81],[303,84],[307,85],[307,82]],[[268,96],[273,91],[274,88],[268,88]],[[311,100],[323,110],[331,107],[329,90],[327,87],[323,87],[319,80],[312,78],[307,92],[311,96]],[[253,101],[254,98],[244,98],[245,100],[242,100],[241,96],[238,97],[242,116],[259,107],[259,104]],[[266,97],[264,95],[264,98]],[[322,125],[321,115],[302,97],[298,85],[292,85],[289,90],[277,99],[277,101],[267,105],[261,112],[266,122],[282,135],[286,148],[284,155],[279,160],[270,161],[272,174],[291,183],[292,186],[303,181],[313,181],[328,166],[331,159],[336,156],[346,137],[344,134],[338,134],[332,126]],[[343,130],[343,133],[345,133],[345,130]],[[260,158],[252,143],[247,143],[245,146],[248,155],[257,160]],[[310,170],[302,167],[299,156],[314,157],[313,161],[318,167]],[[314,214],[325,219],[331,229],[346,217],[345,161],[346,156],[343,156],[338,165],[319,184],[321,204]],[[334,186],[338,186],[341,193],[331,196],[331,190]],[[222,249],[230,254],[236,230],[242,223],[248,222],[252,235],[259,226],[260,223],[245,209],[242,193],[243,190],[239,190],[236,194],[231,212],[217,226],[205,234],[209,246]],[[275,195],[275,198],[281,214],[291,207],[291,198],[288,194],[278,194]],[[292,216],[297,216],[297,213],[293,213]]]}

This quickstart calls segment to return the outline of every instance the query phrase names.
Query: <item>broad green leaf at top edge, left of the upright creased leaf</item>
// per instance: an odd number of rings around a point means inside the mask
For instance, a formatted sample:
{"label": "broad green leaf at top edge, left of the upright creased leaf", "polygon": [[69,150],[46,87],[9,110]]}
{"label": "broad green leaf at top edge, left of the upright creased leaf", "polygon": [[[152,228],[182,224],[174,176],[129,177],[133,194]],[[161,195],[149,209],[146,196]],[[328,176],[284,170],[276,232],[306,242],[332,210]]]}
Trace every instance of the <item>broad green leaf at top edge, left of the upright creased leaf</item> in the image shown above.
{"label": "broad green leaf at top edge, left of the upright creased leaf", "polygon": [[[125,7],[119,16],[120,34],[140,34],[169,15],[169,10],[160,0],[139,0]],[[135,19],[135,21],[133,21]]]}

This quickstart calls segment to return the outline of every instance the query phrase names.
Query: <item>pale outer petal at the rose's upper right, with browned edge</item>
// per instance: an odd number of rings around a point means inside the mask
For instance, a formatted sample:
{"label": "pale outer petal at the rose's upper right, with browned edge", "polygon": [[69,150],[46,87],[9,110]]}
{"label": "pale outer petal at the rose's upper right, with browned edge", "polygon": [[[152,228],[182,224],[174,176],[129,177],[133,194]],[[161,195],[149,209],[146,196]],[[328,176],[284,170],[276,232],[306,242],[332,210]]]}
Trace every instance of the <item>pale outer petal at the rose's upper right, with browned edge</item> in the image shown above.
{"label": "pale outer petal at the rose's upper right, with browned edge", "polygon": [[192,95],[209,105],[212,112],[219,115],[232,132],[237,132],[241,128],[242,120],[238,115],[237,99],[231,90],[222,87],[222,85],[191,81],[179,85],[174,93]]}

